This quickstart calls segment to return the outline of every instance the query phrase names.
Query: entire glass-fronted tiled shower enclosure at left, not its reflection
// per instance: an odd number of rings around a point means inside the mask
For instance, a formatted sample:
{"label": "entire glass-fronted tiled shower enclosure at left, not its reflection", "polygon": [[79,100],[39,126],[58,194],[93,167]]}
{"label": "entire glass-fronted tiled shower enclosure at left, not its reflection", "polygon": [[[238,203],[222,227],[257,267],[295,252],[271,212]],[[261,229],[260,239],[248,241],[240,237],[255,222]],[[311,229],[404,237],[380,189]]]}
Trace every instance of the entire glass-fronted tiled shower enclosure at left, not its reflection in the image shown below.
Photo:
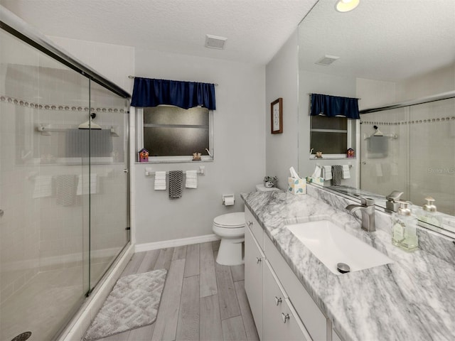
{"label": "entire glass-fronted tiled shower enclosure at left, not its reflection", "polygon": [[129,242],[129,94],[0,12],[0,340],[53,340]]}

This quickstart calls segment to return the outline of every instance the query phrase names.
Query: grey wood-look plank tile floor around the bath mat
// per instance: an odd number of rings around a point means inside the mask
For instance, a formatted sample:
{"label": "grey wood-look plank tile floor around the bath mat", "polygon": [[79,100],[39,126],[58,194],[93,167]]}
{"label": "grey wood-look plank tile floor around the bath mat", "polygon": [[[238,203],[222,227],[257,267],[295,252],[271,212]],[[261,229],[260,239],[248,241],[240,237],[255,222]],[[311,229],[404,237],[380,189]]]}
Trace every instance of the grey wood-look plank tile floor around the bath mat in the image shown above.
{"label": "grey wood-look plank tile floor around the bath mat", "polygon": [[218,247],[207,242],[134,254],[122,276],[168,270],[156,321],[100,340],[259,340],[244,266],[217,264]]}

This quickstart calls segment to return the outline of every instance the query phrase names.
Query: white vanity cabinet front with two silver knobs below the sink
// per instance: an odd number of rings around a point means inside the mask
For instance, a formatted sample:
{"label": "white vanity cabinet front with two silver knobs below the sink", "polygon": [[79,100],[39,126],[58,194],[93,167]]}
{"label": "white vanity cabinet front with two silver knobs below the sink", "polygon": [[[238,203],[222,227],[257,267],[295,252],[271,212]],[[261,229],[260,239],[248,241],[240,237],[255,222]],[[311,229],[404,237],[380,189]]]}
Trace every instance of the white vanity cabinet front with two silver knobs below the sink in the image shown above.
{"label": "white vanity cabinet front with two silver knobs below the sink", "polygon": [[268,261],[264,265],[263,340],[311,341]]}

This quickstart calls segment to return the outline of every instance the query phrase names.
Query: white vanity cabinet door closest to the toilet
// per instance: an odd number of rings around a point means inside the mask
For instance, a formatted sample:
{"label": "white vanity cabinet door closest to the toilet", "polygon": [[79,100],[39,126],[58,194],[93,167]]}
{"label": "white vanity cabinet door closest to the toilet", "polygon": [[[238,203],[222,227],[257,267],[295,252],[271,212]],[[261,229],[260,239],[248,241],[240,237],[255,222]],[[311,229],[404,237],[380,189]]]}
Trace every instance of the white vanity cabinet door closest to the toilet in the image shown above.
{"label": "white vanity cabinet door closest to the toilet", "polygon": [[245,228],[245,291],[255,319],[257,334],[262,340],[262,273],[264,254],[249,227]]}

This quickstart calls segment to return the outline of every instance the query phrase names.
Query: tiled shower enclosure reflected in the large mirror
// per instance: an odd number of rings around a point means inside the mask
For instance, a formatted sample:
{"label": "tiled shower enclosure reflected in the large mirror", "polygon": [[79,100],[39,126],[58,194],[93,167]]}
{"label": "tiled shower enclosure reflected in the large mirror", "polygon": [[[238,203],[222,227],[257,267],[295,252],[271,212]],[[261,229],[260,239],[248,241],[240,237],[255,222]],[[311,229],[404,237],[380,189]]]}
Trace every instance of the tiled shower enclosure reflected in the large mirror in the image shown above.
{"label": "tiled shower enclosure reflected in the large mirror", "polygon": [[455,94],[444,97],[360,116],[362,190],[399,190],[419,206],[431,196],[455,215]]}

